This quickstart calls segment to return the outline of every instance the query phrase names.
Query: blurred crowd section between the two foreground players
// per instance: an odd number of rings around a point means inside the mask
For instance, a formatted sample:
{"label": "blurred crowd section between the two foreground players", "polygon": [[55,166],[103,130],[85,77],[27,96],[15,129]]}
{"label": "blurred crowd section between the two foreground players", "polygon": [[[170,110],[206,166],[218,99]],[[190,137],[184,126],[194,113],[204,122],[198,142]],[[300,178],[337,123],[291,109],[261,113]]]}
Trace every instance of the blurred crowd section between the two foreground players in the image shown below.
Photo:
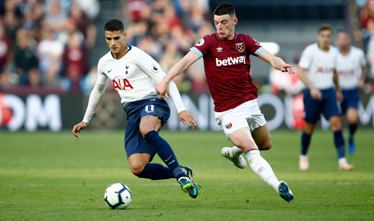
{"label": "blurred crowd section between the two foreground players", "polygon": [[[164,72],[215,31],[208,0],[128,0],[119,17],[125,22],[126,43],[147,52]],[[173,81],[182,93],[209,91],[202,59]]]}

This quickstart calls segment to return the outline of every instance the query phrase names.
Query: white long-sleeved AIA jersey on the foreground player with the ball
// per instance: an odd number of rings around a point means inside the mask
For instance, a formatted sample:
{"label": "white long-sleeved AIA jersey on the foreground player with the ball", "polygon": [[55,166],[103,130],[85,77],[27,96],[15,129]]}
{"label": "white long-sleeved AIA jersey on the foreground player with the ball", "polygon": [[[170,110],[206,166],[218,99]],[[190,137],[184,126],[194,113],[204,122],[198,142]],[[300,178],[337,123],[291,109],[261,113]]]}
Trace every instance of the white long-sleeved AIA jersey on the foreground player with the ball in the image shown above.
{"label": "white long-sleeved AIA jersey on the foreground player with the ball", "polygon": [[[166,75],[151,56],[131,45],[129,45],[126,54],[119,60],[113,58],[111,51],[100,58],[97,74],[96,85],[90,95],[86,114],[83,118],[83,122],[86,123],[91,119],[105,90],[105,86],[98,86],[106,85],[110,80],[121,97],[122,105],[125,105],[128,102],[159,97],[153,87],[152,78],[159,83]],[[96,90],[96,88],[102,89]],[[169,82],[169,95],[178,113],[186,110],[178,88],[172,81]]]}

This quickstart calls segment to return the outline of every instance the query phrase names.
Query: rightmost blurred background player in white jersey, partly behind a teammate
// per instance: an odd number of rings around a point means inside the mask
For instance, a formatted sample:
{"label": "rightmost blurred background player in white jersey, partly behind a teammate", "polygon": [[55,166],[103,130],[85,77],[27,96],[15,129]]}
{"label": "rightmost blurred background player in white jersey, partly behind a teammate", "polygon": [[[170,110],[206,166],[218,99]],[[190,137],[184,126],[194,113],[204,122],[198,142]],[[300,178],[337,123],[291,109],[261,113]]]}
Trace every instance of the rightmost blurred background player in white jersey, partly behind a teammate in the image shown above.
{"label": "rightmost blurred background player in white jersey, partly behind a teammate", "polygon": [[[347,31],[340,30],[336,35],[336,43],[339,46],[336,70],[339,75],[339,85],[343,92],[341,110],[347,114],[349,124],[349,154],[356,149],[353,134],[357,129],[358,102],[360,100],[358,89],[364,87],[366,76],[365,53],[360,48],[350,45],[350,37]],[[343,117],[341,117],[343,125]]]}

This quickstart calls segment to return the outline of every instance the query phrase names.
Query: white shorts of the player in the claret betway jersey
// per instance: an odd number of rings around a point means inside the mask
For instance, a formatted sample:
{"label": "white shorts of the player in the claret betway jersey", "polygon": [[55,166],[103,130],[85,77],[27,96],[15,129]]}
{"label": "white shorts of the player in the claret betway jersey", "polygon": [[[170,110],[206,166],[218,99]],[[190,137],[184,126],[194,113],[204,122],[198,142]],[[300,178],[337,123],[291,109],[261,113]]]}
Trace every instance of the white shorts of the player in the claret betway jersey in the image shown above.
{"label": "white shorts of the player in the claret betway jersey", "polygon": [[252,132],[266,124],[264,115],[257,105],[257,99],[242,103],[234,109],[214,113],[215,121],[222,127],[227,138],[237,129],[248,127]]}

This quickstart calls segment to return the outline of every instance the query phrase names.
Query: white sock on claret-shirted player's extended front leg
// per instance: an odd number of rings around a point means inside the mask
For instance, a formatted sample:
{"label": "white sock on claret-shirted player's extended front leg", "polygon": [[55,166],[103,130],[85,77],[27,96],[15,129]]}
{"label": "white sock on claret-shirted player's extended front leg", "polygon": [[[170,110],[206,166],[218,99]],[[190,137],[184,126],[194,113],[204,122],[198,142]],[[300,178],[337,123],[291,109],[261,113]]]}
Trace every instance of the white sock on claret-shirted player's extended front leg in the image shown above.
{"label": "white sock on claret-shirted player's extended front leg", "polygon": [[267,184],[277,190],[278,179],[276,178],[272,167],[267,163],[267,161],[261,157],[259,150],[252,150],[245,154],[249,165],[252,170],[260,176]]}

